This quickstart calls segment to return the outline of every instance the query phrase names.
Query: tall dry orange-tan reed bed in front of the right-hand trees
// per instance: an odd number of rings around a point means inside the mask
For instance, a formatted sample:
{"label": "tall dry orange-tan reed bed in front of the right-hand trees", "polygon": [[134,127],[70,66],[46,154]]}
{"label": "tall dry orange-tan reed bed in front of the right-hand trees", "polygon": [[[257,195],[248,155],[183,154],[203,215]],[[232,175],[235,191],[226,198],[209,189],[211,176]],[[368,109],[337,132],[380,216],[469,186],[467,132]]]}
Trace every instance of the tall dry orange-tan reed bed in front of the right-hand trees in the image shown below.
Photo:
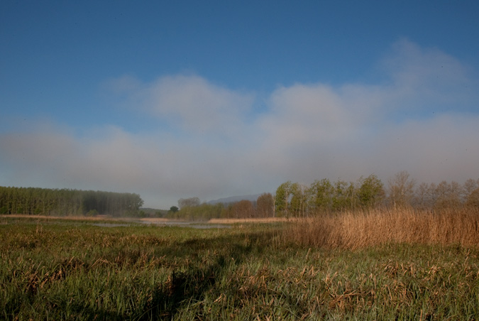
{"label": "tall dry orange-tan reed bed in front of the right-hand trees", "polygon": [[479,209],[345,212],[294,222],[282,235],[297,244],[344,249],[387,243],[477,246]]}

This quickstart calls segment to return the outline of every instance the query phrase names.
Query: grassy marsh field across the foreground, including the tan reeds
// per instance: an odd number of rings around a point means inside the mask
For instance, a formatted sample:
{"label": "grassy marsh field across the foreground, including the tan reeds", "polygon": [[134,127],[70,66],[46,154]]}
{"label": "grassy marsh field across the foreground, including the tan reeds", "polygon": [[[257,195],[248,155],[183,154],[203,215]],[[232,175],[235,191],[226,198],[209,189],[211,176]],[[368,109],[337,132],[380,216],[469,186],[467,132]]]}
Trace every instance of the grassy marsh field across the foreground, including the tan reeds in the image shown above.
{"label": "grassy marsh field across the foreground, including the tan reeds", "polygon": [[478,213],[378,215],[230,229],[1,217],[0,319],[478,320]]}

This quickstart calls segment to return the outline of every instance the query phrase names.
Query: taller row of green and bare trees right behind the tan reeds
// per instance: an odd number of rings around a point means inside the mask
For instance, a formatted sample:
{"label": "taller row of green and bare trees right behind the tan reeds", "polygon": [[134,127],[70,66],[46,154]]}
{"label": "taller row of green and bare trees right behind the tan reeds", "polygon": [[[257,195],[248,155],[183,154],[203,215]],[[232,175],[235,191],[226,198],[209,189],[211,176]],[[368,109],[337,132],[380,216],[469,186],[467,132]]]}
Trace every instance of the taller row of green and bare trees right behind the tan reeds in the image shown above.
{"label": "taller row of green and bare trees right behind the tan reeds", "polygon": [[378,207],[416,210],[479,207],[479,179],[466,180],[463,185],[445,180],[418,185],[407,171],[401,171],[389,178],[386,185],[374,174],[361,177],[356,183],[323,179],[307,186],[287,182],[277,188],[275,205],[280,214],[297,217]]}

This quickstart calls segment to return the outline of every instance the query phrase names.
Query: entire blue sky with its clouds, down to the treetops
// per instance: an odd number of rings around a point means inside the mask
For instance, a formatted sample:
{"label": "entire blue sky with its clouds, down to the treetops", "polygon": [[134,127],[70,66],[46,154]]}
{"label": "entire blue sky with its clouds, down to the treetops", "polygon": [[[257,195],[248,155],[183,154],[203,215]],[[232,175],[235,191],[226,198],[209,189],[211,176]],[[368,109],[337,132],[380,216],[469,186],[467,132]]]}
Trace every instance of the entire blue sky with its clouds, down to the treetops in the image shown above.
{"label": "entire blue sky with its clouds, down to the treetops", "polygon": [[479,1],[0,2],[0,185],[145,207],[479,178]]}

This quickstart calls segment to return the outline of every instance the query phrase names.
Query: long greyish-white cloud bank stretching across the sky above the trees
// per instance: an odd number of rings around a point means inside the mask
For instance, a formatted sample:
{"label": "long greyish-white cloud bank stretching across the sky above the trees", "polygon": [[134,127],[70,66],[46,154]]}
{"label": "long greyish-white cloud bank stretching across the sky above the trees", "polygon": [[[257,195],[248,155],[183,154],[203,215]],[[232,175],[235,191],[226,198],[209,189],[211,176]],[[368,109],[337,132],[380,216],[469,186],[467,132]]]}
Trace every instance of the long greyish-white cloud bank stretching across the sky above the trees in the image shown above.
{"label": "long greyish-white cloud bank stretching across the sky above the trees", "polygon": [[[138,192],[148,206],[273,191],[285,180],[479,178],[478,80],[436,49],[401,40],[385,82],[278,87],[251,119],[255,95],[199,76],[110,82],[124,104],[168,129],[119,126],[78,138],[57,126],[0,134],[1,185]],[[438,78],[439,77],[439,78]],[[434,106],[439,106],[434,108]],[[171,133],[170,128],[175,128]]]}

